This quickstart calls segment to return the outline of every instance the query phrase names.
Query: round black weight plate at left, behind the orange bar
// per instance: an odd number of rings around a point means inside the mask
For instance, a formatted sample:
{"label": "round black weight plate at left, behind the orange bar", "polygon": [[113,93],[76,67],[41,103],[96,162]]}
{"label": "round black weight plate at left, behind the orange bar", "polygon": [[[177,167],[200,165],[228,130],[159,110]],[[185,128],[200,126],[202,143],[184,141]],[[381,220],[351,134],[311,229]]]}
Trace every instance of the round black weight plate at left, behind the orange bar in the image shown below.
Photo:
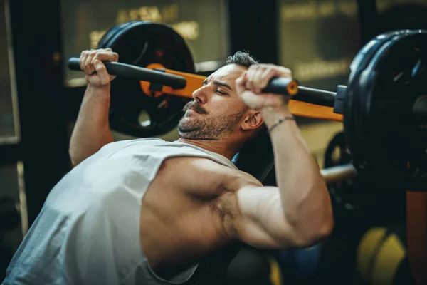
{"label": "round black weight plate at left, behind the orange bar", "polygon": [[[165,68],[194,73],[194,61],[181,36],[169,26],[146,21],[134,21],[122,26],[104,48],[119,54],[119,61],[146,67],[150,63]],[[111,90],[111,128],[134,135],[148,137],[172,130],[182,116],[187,99],[161,95],[152,98],[144,95],[139,81],[117,77]],[[141,123],[139,114],[145,110],[149,120]]]}

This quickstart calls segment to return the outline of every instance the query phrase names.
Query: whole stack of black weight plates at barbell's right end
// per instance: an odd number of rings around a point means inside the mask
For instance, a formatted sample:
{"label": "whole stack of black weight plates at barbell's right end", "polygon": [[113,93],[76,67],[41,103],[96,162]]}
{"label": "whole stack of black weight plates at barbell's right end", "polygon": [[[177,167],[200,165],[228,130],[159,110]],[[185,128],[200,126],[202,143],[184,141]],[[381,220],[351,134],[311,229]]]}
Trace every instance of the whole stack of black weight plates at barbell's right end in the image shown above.
{"label": "whole stack of black weight plates at barbell's right end", "polygon": [[411,115],[427,94],[426,61],[427,33],[401,31],[376,51],[344,110],[354,165],[388,188],[427,190],[426,129]]}

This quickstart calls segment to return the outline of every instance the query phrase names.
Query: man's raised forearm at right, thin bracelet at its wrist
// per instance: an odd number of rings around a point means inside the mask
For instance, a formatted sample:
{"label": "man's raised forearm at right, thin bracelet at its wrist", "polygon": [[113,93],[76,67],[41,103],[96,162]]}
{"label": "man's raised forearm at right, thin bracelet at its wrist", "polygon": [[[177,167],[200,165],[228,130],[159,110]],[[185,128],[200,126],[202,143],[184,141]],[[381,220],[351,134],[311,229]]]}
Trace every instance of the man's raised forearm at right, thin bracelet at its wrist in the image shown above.
{"label": "man's raised forearm at right, thin bracelet at its wrist", "polygon": [[[286,108],[265,108],[270,128],[290,116]],[[275,170],[285,217],[300,234],[311,238],[332,227],[332,209],[325,181],[294,120],[285,120],[270,133],[275,152]]]}

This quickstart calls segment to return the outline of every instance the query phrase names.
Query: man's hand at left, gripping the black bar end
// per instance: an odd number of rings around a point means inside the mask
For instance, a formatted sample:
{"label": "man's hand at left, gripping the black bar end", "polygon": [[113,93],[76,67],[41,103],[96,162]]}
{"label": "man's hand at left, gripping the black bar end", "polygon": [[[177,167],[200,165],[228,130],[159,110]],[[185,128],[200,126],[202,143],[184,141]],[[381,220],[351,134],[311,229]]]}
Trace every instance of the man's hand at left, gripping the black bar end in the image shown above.
{"label": "man's hand at left, gripping the black bar end", "polygon": [[82,51],[80,68],[86,73],[86,81],[90,86],[104,88],[110,86],[115,76],[110,76],[102,61],[118,61],[119,55],[111,48]]}

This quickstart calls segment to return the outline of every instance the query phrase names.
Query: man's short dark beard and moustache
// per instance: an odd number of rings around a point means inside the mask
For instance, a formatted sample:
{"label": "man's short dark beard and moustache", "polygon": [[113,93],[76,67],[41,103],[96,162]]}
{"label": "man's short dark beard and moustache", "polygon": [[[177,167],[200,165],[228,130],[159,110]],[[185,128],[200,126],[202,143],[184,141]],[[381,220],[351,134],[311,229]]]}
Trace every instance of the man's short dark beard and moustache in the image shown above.
{"label": "man's short dark beard and moustache", "polygon": [[184,112],[189,108],[194,109],[198,115],[185,113],[178,123],[179,138],[189,140],[218,140],[231,135],[247,110],[243,108],[235,114],[209,118],[206,116],[209,113],[197,101],[187,103],[184,106]]}

